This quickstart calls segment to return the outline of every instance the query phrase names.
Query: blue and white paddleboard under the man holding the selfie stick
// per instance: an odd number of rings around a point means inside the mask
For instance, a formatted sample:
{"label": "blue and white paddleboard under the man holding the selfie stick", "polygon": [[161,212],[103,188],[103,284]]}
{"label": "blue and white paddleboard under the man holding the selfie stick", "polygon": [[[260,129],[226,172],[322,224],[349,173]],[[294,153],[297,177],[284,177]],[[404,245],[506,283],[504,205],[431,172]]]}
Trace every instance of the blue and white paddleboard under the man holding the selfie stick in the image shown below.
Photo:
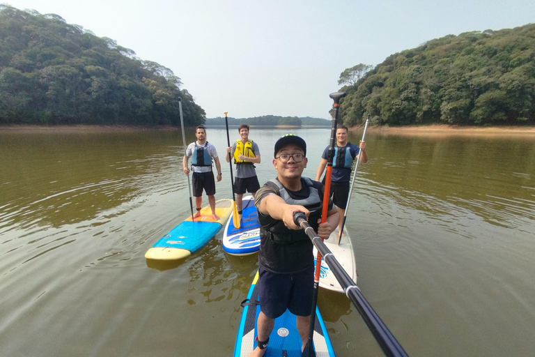
{"label": "blue and white paddleboard under the man holding the selfie stick", "polygon": [[[246,357],[256,348],[256,319],[260,313],[257,281],[258,272],[247,295],[246,301],[248,303],[242,303],[244,308],[240,327],[238,328],[238,336],[236,337],[234,357]],[[318,307],[316,307],[313,344],[317,357],[334,356],[331,340]],[[295,315],[286,310],[284,314],[275,319],[275,326],[270,335],[270,343],[267,344],[264,357],[301,357],[301,347],[301,337],[295,327]]]}

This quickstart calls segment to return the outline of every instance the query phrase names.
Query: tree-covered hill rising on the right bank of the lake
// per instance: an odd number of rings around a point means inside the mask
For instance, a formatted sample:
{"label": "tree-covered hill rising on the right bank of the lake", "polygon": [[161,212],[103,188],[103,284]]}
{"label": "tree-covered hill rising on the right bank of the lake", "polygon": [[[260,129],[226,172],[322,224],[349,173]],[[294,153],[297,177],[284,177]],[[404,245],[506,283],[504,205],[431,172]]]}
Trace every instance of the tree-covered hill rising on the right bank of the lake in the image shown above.
{"label": "tree-covered hill rising on the right bank of the lake", "polygon": [[430,40],[369,69],[341,73],[346,125],[368,114],[393,126],[535,125],[535,24]]}

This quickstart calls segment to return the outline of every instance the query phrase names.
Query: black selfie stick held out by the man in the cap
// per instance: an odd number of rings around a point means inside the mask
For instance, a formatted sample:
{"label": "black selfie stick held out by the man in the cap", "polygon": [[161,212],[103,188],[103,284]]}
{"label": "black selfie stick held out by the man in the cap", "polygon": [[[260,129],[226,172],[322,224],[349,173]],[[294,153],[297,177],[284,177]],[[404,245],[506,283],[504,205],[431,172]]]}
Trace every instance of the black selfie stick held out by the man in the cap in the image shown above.
{"label": "black selfie stick held out by the man in the cap", "polygon": [[[408,357],[408,354],[405,352],[403,347],[401,347],[401,344],[399,344],[399,342],[396,340],[396,337],[392,335],[385,323],[382,322],[378,314],[373,310],[368,301],[366,301],[366,298],[364,298],[360,292],[359,287],[355,285],[355,282],[353,282],[348,273],[346,273],[339,261],[336,260],[332,252],[329,250],[329,248],[327,248],[327,245],[323,243],[323,238],[320,238],[316,231],[310,227],[309,222],[307,222],[307,216],[305,216],[302,212],[297,212],[295,215],[293,215],[293,220],[296,225],[304,229],[307,236],[309,236],[311,239],[313,245],[316,247],[316,249],[318,249],[318,255],[321,254],[329,268],[332,270],[336,280],[340,282],[341,286],[343,287],[343,291],[346,293],[346,296],[348,296],[350,301],[357,308],[357,311],[359,312],[360,316],[362,316],[362,319],[364,319],[366,326],[368,326],[369,330],[373,334],[373,337],[375,337],[375,340],[377,340],[385,356]],[[314,310],[316,310],[316,307],[314,307]],[[310,337],[307,347],[309,344],[311,344]],[[305,348],[305,351],[307,351],[307,348]],[[313,350],[310,354],[304,354],[305,351],[303,351],[302,356],[314,356]]]}

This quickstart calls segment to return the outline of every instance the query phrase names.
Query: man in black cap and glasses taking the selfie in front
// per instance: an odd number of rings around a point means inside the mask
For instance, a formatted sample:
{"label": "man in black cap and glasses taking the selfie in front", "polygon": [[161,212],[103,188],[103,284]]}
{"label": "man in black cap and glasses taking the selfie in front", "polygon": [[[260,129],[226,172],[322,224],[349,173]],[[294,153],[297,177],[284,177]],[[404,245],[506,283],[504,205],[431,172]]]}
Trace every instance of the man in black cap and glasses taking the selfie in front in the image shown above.
{"label": "man in black cap and glasses taking the selfie in front", "polygon": [[263,356],[274,327],[274,319],[286,309],[297,316],[296,326],[307,344],[314,281],[313,245],[295,225],[293,215],[303,212],[318,235],[327,238],[335,229],[339,213],[329,200],[327,222],[320,224],[323,185],[302,177],[307,167],[307,144],[287,134],[275,143],[273,166],[277,179],[267,181],[256,192],[255,205],[260,222],[261,313],[257,321],[257,347],[249,356]]}

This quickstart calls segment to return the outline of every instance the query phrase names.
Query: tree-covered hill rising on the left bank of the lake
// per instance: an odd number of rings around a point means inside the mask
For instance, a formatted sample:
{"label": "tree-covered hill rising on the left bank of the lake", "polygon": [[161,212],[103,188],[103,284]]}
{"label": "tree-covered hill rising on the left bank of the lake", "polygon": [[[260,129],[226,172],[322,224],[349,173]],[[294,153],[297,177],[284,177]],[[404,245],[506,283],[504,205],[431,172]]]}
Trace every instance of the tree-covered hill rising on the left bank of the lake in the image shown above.
{"label": "tree-covered hill rising on the left bank of the lake", "polygon": [[180,78],[59,15],[0,5],[0,124],[185,125],[205,119]]}

